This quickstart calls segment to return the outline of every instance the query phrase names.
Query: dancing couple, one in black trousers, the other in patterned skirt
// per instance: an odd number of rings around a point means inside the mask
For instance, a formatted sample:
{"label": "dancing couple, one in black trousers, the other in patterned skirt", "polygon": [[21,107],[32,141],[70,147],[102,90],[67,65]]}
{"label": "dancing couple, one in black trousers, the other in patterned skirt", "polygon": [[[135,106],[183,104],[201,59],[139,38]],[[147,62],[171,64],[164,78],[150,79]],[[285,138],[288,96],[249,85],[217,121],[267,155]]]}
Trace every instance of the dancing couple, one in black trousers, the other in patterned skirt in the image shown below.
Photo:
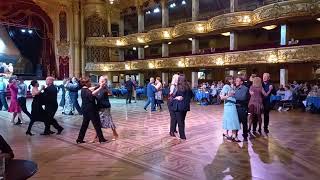
{"label": "dancing couple, one in black trousers, the other in patterned skirt", "polygon": [[[111,128],[113,131],[112,140],[118,138],[116,126],[113,123],[110,114],[110,102],[109,102],[109,89],[107,87],[107,77],[101,76],[99,78],[99,86],[91,87],[89,78],[82,78],[80,80],[82,105],[81,110],[83,112],[83,121],[80,128],[77,144],[85,143],[84,137],[91,121],[96,135],[93,142],[97,140],[100,143],[105,143],[107,140],[104,138],[101,128]],[[96,103],[97,102],[97,103]]]}

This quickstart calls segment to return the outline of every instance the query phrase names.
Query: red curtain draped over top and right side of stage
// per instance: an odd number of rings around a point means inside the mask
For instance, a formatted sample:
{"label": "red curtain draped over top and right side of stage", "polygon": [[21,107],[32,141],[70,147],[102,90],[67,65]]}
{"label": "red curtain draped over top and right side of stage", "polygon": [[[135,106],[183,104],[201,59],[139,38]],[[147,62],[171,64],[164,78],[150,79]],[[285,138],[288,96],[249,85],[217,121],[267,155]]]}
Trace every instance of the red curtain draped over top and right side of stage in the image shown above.
{"label": "red curtain draped over top and right side of stage", "polygon": [[43,66],[43,75],[57,75],[53,23],[41,7],[32,0],[0,0],[0,24],[42,31],[43,37],[40,38],[43,45],[39,63]]}

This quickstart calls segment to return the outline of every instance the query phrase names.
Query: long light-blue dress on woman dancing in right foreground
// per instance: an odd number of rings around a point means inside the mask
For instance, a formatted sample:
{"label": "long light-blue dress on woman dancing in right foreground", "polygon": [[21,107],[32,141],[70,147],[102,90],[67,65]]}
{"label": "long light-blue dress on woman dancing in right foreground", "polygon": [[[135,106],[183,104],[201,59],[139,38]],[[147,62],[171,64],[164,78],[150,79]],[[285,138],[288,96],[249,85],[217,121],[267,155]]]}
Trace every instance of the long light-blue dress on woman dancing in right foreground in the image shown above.
{"label": "long light-blue dress on woman dancing in right foreground", "polygon": [[[232,90],[231,86],[226,84],[221,90],[221,95],[227,95]],[[236,99],[234,97],[228,97],[224,102],[223,109],[223,129],[225,130],[239,130],[240,123],[235,105]]]}

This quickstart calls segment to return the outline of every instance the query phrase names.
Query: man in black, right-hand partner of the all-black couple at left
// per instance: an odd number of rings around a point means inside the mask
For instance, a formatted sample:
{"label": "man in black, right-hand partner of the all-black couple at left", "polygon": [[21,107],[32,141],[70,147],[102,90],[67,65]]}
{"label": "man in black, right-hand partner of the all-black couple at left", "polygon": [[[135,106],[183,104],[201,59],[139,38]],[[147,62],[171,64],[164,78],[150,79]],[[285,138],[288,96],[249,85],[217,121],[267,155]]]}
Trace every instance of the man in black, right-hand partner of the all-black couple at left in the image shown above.
{"label": "man in black, right-hand partner of the all-black couple at left", "polygon": [[45,111],[49,116],[49,119],[47,120],[48,123],[46,123],[46,127],[42,135],[50,135],[53,133],[50,130],[50,125],[53,125],[53,127],[58,130],[57,134],[61,134],[61,132],[63,131],[63,127],[61,127],[58,124],[57,120],[54,119],[54,115],[58,110],[58,101],[57,101],[58,90],[56,86],[53,84],[53,82],[54,82],[53,77],[47,77],[46,78],[47,87],[44,89],[44,92],[42,93],[42,97],[44,98],[43,103],[45,105]]}

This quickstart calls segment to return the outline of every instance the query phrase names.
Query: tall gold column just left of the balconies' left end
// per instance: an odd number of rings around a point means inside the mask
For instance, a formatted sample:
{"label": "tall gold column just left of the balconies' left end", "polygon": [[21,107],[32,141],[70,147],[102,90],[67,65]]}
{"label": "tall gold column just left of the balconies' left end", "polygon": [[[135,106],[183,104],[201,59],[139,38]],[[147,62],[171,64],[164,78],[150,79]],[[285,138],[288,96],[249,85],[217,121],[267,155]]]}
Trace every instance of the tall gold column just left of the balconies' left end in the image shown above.
{"label": "tall gold column just left of the balconies' left end", "polygon": [[81,47],[80,47],[80,9],[79,1],[73,2],[73,44],[74,44],[74,75],[76,77],[80,76],[80,57],[81,57]]}

